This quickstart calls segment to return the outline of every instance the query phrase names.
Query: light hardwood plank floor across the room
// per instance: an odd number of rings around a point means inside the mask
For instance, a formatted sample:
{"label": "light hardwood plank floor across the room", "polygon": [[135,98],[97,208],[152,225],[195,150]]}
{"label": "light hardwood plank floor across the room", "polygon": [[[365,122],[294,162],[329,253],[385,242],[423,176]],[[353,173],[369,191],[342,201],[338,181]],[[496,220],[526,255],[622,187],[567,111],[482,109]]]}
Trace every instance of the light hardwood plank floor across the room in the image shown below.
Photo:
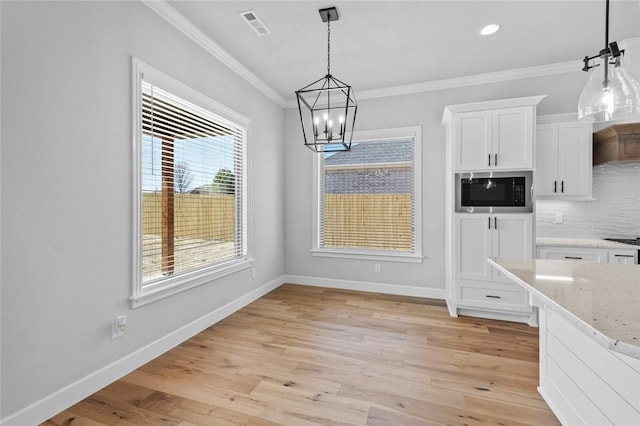
{"label": "light hardwood plank floor across the room", "polygon": [[556,425],[537,339],[442,301],[287,284],[43,425]]}

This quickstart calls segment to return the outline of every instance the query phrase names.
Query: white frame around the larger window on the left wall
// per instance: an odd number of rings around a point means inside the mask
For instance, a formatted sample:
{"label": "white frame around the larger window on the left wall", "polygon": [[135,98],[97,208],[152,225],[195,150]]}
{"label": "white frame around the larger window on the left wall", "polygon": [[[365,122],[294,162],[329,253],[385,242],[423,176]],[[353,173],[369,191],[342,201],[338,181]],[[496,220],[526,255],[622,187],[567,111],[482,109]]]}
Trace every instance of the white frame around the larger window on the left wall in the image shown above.
{"label": "white frame around the larger window on the left wall", "polygon": [[[141,93],[142,93],[142,77],[144,80],[153,85],[160,87],[173,95],[176,95],[186,101],[193,103],[205,110],[220,116],[224,120],[243,127],[246,132],[246,144],[244,152],[244,191],[242,200],[242,211],[244,221],[244,245],[245,255],[240,259],[234,259],[219,265],[213,265],[197,271],[178,274],[176,276],[167,277],[160,281],[154,281],[143,285],[142,281],[142,171],[141,171],[141,149],[142,149],[142,131],[141,131]],[[151,67],[141,60],[132,57],[132,98],[133,98],[133,221],[132,221],[132,246],[133,246],[133,267],[132,267],[132,287],[131,287],[131,307],[137,308],[157,300],[164,299],[174,294],[186,291],[188,289],[210,283],[221,277],[248,269],[252,266],[253,259],[251,257],[251,212],[249,210],[250,203],[250,144],[251,140],[251,120],[243,115],[227,108],[219,102],[216,102],[207,96],[201,94],[195,89],[181,83],[180,81],[164,74],[163,72]]]}

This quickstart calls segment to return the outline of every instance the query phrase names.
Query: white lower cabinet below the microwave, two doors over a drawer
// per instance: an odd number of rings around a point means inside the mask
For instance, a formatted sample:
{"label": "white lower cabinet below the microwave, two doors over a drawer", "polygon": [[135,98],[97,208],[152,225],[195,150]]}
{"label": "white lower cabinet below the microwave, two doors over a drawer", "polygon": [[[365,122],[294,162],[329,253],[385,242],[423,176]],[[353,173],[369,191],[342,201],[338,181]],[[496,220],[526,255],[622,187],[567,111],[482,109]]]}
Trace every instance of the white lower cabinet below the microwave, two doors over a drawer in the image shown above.
{"label": "white lower cabinet below the microwave, two doors over a drawer", "polygon": [[487,263],[488,257],[531,259],[532,233],[533,214],[455,214],[450,312],[536,324],[528,293]]}

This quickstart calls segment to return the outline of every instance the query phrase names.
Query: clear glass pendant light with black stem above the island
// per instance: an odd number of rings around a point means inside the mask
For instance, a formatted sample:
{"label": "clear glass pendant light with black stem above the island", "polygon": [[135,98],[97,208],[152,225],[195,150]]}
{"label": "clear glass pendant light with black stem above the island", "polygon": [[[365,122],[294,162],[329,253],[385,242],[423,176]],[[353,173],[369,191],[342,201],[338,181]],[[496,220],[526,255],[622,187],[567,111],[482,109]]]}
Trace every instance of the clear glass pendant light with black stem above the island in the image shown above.
{"label": "clear glass pendant light with black stem above the island", "polygon": [[[624,51],[618,43],[609,43],[609,0],[606,0],[605,46],[595,56],[585,56],[589,81],[578,101],[578,119],[611,121],[640,113],[640,83],[624,69]],[[597,63],[601,60],[601,63]],[[590,61],[594,61],[590,64]]]}

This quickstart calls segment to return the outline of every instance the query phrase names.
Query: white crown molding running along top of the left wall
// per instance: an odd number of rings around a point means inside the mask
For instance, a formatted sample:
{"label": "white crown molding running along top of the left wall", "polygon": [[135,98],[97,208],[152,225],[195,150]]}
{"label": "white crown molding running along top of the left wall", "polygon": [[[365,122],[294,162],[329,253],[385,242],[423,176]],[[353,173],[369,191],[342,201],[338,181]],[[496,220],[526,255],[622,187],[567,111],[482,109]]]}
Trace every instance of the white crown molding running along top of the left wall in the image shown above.
{"label": "white crown molding running along top of the left wall", "polygon": [[198,29],[191,21],[184,17],[180,12],[171,7],[165,0],[140,0],[149,9],[156,12],[171,25],[180,30],[184,35],[193,40],[196,44],[209,52],[213,57],[218,59],[224,65],[229,67],[233,72],[245,79],[249,84],[262,92],[269,99],[283,108],[286,108],[287,101],[273,90],[267,83],[262,81],[258,76],[249,71],[247,67],[242,65],[236,58],[231,56],[229,52],[224,50],[219,44],[211,40],[205,33]]}

